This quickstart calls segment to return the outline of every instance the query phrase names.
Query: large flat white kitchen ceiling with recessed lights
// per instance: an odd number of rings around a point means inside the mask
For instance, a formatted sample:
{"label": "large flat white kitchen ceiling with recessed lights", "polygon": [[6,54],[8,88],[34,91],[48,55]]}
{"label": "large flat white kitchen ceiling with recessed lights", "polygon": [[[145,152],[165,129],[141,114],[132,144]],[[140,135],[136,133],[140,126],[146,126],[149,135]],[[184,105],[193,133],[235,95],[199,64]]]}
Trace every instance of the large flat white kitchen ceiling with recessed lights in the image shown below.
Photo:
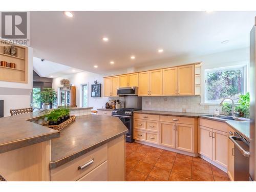
{"label": "large flat white kitchen ceiling with recessed lights", "polygon": [[[74,17],[68,18],[61,11],[32,11],[30,46],[35,57],[94,73],[248,47],[256,16],[255,11],[73,13]],[[109,41],[103,42],[103,36]],[[229,43],[221,44],[224,40]],[[159,48],[164,52],[159,54]],[[131,60],[131,55],[136,59]]]}

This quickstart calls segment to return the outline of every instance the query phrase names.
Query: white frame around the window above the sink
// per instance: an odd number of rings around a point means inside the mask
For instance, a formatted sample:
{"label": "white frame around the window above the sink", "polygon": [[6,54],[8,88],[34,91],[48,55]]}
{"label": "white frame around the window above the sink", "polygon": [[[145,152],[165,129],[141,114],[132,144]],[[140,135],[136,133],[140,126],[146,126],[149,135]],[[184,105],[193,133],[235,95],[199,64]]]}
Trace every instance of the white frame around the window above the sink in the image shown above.
{"label": "white frame around the window above the sink", "polygon": [[218,67],[218,68],[210,68],[204,70],[204,104],[219,104],[221,101],[209,101],[207,100],[207,73],[208,72],[216,72],[216,71],[228,71],[228,70],[238,70],[242,69],[242,94],[246,94],[247,92],[247,78],[248,78],[248,65],[235,65],[228,67]]}

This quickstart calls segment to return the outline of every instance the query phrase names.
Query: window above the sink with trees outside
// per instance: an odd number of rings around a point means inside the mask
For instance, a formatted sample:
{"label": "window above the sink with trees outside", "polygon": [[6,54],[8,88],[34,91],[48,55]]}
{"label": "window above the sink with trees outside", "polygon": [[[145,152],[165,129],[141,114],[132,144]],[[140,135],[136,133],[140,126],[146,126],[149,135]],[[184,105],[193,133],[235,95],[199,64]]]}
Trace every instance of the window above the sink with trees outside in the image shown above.
{"label": "window above the sink with trees outside", "polygon": [[205,70],[205,103],[220,103],[224,98],[238,101],[246,93],[246,66]]}

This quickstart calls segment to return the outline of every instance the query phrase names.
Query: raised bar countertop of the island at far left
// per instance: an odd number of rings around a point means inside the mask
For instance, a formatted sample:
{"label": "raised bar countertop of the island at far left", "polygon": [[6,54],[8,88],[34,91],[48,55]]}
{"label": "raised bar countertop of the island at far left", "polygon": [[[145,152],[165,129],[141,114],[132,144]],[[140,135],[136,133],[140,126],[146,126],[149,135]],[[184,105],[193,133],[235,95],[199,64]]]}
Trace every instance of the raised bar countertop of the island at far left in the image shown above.
{"label": "raised bar countertop of the island at far left", "polygon": [[59,132],[31,122],[44,112],[0,118],[0,153],[59,137]]}

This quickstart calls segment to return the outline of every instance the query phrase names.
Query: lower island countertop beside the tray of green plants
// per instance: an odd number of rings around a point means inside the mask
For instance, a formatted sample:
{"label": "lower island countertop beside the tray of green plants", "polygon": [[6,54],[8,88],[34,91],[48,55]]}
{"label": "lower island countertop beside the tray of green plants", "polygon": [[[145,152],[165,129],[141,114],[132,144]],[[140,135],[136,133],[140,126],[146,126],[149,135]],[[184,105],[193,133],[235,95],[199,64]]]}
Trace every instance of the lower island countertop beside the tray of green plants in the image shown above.
{"label": "lower island countertop beside the tray of green plants", "polygon": [[109,141],[128,130],[118,117],[83,115],[60,131],[51,141],[50,168],[56,168]]}

